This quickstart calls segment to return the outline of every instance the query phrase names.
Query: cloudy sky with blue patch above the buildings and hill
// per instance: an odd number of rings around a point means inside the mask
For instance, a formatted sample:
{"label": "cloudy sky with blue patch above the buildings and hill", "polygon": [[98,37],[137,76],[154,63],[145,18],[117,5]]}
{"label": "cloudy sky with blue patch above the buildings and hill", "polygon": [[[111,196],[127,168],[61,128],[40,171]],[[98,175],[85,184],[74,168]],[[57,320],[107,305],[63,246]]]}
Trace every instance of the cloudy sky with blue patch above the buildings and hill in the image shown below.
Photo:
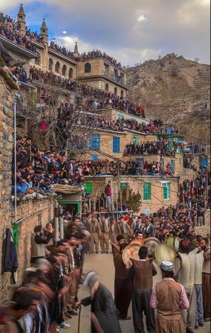
{"label": "cloudy sky with blue patch above the buildings and hill", "polygon": [[[18,0],[1,0],[14,19]],[[27,26],[79,53],[101,50],[134,66],[168,53],[210,64],[210,0],[23,0]]]}

